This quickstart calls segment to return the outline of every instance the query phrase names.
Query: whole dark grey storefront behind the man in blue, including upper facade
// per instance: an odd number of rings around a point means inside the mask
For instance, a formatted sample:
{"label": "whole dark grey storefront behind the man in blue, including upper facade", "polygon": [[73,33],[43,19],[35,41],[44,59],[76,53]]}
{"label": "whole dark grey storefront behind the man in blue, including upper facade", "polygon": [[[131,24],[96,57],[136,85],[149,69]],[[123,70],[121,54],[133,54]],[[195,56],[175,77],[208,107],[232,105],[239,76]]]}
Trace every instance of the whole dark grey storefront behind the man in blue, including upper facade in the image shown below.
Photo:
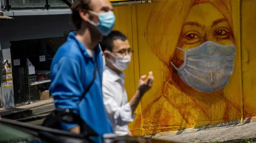
{"label": "whole dark grey storefront behind the man in blue, including upper facade", "polygon": [[64,33],[75,30],[70,14],[13,18],[0,27],[1,62],[10,61],[12,73],[5,79],[2,71],[4,108],[49,98],[51,60],[66,40]]}

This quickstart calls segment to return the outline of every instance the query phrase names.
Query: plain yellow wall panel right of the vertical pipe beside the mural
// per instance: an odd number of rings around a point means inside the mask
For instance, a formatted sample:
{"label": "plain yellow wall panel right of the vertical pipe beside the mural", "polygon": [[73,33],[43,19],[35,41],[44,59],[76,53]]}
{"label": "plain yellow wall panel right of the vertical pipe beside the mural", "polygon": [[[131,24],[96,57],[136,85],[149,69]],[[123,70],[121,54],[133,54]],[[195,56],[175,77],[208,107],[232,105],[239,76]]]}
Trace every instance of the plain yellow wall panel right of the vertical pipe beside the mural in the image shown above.
{"label": "plain yellow wall panel right of the vertical pipe beside the mural", "polygon": [[[242,79],[245,116],[256,115],[256,1],[242,1]],[[248,54],[246,52],[248,50]],[[249,60],[247,60],[249,59]]]}

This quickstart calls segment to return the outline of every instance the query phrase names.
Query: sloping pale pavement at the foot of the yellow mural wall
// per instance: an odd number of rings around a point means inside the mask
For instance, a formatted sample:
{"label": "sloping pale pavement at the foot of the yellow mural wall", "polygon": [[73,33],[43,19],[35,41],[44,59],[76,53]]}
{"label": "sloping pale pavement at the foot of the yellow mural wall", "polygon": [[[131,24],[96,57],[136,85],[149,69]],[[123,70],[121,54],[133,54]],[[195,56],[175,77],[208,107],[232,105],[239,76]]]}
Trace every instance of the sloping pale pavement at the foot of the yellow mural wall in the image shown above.
{"label": "sloping pale pavement at the foot of the yellow mural wall", "polygon": [[[221,126],[220,123],[216,126]],[[222,127],[197,127],[183,129],[176,132],[163,132],[152,135],[152,138],[168,140],[168,141],[178,141],[182,143],[197,143],[197,142],[225,142],[225,143],[235,143],[235,142],[253,142],[256,141],[256,122],[255,118],[251,118],[242,124],[228,125]],[[148,136],[149,137],[149,136]]]}

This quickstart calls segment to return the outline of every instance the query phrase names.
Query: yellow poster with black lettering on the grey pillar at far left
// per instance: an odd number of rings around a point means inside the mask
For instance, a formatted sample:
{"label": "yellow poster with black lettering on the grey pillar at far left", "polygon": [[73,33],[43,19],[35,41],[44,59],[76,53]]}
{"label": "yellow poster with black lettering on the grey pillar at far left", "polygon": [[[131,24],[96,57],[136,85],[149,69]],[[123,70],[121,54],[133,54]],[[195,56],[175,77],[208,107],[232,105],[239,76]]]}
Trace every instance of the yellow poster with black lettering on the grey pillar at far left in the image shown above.
{"label": "yellow poster with black lettering on the grey pillar at far left", "polygon": [[2,75],[3,75],[3,88],[12,87],[12,72],[11,72],[11,62],[9,60],[4,60],[2,62]]}

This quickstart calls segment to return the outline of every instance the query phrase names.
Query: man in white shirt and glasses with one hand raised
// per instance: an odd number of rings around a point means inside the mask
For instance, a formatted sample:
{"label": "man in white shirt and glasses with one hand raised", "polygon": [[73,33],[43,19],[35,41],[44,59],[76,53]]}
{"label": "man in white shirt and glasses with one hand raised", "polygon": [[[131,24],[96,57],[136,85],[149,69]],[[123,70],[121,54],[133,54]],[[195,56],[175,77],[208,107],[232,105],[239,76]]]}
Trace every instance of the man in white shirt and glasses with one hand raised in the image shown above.
{"label": "man in white shirt and glasses with one hand raised", "polygon": [[146,80],[146,75],[140,77],[138,90],[128,102],[123,70],[129,66],[133,53],[129,41],[121,32],[112,31],[103,37],[100,46],[106,59],[102,91],[107,116],[112,122],[114,133],[119,136],[131,135],[128,124],[134,120],[134,111],[143,94],[152,86],[152,71]]}

